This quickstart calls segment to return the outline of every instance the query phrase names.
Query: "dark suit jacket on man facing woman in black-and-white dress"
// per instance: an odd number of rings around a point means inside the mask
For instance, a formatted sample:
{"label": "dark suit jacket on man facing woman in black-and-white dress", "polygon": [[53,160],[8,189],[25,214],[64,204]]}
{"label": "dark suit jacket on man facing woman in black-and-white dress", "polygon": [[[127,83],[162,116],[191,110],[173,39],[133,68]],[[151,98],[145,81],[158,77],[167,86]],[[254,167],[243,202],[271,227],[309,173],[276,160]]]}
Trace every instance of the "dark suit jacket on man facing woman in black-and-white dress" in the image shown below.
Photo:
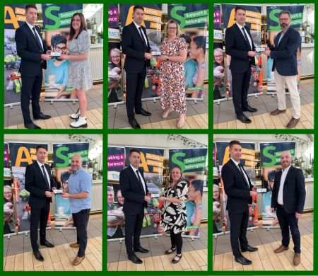
{"label": "dark suit jacket on man facing woman in black-and-white dress", "polygon": [[[138,170],[141,177],[143,178],[143,171],[141,171],[140,168]],[[147,195],[149,191],[146,185],[145,178],[143,178],[143,181],[145,181]],[[136,173],[134,173],[131,166],[125,168],[120,172],[119,185],[120,190],[122,190],[122,196],[125,199],[124,213],[128,215],[139,214],[141,206],[144,202],[145,195],[143,192],[143,186],[139,183]]]}

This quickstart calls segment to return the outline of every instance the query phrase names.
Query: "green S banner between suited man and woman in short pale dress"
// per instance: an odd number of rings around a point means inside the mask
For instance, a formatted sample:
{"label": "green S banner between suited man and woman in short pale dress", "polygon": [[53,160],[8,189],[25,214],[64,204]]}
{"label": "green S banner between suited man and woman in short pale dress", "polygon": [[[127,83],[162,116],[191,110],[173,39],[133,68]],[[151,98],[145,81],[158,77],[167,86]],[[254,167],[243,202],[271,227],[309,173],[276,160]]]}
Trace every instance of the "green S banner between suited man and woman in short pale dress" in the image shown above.
{"label": "green S banner between suited man and woman in short pale dress", "polygon": [[[52,52],[66,53],[74,13],[83,13],[83,4],[42,4],[43,42]],[[44,71],[45,101],[78,100],[75,89],[67,86],[69,59],[49,59]]]}

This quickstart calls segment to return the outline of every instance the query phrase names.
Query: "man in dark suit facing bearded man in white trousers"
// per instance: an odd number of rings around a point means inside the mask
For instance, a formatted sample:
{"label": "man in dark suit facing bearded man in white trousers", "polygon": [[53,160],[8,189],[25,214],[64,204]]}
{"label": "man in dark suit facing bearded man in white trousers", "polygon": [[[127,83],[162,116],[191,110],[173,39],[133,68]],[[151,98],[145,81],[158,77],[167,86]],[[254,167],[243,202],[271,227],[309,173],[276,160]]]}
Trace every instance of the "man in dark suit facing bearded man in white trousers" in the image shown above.
{"label": "man in dark suit facing bearded man in white trousers", "polygon": [[235,114],[241,122],[252,122],[243,111],[257,112],[247,102],[247,91],[251,79],[251,65],[255,65],[255,46],[249,28],[244,25],[246,13],[245,8],[235,8],[236,23],[225,32],[225,52],[231,56],[230,69],[232,74],[232,97]]}

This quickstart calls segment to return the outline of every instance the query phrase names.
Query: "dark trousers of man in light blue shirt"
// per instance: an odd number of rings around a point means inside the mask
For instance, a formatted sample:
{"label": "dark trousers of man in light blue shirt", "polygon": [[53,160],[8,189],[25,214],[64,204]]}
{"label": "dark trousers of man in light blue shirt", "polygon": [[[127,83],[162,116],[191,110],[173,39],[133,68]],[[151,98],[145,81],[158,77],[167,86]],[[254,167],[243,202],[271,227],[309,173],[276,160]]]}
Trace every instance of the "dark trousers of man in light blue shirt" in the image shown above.
{"label": "dark trousers of man in light blue shirt", "polygon": [[83,209],[78,213],[72,213],[73,225],[76,227],[77,244],[80,245],[78,248],[78,257],[82,258],[85,256],[87,246],[87,224],[90,218],[90,209]]}

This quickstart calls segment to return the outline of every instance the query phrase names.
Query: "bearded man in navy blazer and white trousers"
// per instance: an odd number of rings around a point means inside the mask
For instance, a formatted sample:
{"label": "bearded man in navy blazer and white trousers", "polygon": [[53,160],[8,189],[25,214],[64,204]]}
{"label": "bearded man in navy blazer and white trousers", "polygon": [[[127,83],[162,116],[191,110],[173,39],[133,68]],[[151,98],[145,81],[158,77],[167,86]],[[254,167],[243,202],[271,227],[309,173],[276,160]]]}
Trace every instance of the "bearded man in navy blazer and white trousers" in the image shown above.
{"label": "bearded man in navy blazer and white trousers", "polygon": [[297,87],[298,64],[297,52],[301,46],[300,33],[290,28],[292,19],[289,11],[279,13],[279,24],[282,31],[274,40],[274,47],[265,47],[266,56],[273,59],[273,68],[278,108],[271,112],[271,115],[286,113],[285,84],[288,86],[290,100],[293,105],[293,117],[287,124],[287,128],[293,128],[300,120],[300,96]]}

